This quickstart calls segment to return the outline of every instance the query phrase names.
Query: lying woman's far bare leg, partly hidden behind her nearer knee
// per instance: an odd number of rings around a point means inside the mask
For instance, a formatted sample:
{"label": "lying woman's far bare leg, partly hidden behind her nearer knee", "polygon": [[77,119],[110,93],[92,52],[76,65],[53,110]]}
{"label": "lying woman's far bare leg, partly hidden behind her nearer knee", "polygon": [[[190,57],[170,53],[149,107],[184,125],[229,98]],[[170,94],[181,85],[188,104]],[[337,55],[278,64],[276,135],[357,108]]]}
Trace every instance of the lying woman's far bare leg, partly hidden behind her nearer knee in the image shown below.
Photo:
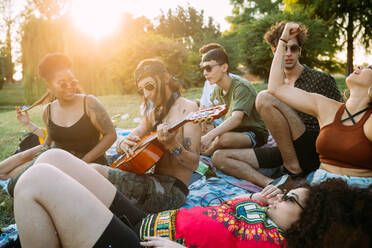
{"label": "lying woman's far bare leg, partly hidden behind her nearer knee", "polygon": [[60,169],[92,192],[106,207],[111,205],[116,194],[115,186],[83,160],[64,150],[51,149],[37,158],[35,165],[39,163]]}

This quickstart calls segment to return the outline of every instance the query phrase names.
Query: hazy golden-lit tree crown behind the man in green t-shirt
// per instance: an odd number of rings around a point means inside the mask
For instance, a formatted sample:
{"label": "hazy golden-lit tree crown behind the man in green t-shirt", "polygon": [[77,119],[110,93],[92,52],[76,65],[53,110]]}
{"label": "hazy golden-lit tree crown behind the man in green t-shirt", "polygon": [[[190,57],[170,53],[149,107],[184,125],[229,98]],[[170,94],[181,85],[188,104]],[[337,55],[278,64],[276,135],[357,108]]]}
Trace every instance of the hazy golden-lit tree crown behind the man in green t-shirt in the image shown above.
{"label": "hazy golden-lit tree crown behind the man in green t-shirt", "polygon": [[220,36],[219,26],[209,17],[205,23],[204,11],[188,6],[169,9],[158,17],[155,33],[184,43],[187,48],[197,51],[203,41],[215,40]]}

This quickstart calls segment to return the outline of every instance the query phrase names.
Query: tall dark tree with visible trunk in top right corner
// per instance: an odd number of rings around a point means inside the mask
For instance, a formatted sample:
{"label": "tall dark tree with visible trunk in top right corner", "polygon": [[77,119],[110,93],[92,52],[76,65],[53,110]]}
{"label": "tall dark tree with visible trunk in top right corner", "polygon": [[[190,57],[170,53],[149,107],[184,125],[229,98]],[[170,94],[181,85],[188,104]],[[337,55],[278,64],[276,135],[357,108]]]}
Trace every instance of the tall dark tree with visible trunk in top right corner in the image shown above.
{"label": "tall dark tree with visible trunk in top right corner", "polygon": [[[368,49],[372,45],[372,1],[371,0],[290,0],[293,8],[309,11],[312,18],[328,22],[347,44],[346,74],[353,71],[354,41],[358,35],[362,45]],[[344,42],[344,43],[345,43]],[[344,44],[343,43],[343,44]]]}

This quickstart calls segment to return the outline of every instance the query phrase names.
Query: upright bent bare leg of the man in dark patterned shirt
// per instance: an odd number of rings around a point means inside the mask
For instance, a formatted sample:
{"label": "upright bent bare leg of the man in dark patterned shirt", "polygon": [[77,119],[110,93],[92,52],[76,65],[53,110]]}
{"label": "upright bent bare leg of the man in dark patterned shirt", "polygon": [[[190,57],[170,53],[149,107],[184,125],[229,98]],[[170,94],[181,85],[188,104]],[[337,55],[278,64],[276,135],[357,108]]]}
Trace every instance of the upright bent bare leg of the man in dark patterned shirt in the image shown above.
{"label": "upright bent bare leg of the man in dark patterned shirt", "polygon": [[256,98],[256,108],[278,145],[284,166],[292,173],[300,173],[293,140],[305,132],[305,125],[297,113],[267,91]]}

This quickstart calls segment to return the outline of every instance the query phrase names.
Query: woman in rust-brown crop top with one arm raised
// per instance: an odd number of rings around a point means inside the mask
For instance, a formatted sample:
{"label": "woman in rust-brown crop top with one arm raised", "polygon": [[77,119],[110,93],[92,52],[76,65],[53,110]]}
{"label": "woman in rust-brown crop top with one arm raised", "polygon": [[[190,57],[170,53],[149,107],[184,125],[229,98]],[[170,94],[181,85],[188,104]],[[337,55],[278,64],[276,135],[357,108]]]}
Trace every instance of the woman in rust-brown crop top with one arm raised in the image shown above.
{"label": "woman in rust-brown crop top with one arm raised", "polygon": [[313,183],[342,178],[349,184],[368,187],[372,184],[372,66],[358,67],[346,78],[350,90],[346,103],[292,87],[284,80],[284,55],[286,43],[299,32],[296,23],[285,26],[271,65],[268,90],[319,121],[316,148],[321,166],[309,176]]}

